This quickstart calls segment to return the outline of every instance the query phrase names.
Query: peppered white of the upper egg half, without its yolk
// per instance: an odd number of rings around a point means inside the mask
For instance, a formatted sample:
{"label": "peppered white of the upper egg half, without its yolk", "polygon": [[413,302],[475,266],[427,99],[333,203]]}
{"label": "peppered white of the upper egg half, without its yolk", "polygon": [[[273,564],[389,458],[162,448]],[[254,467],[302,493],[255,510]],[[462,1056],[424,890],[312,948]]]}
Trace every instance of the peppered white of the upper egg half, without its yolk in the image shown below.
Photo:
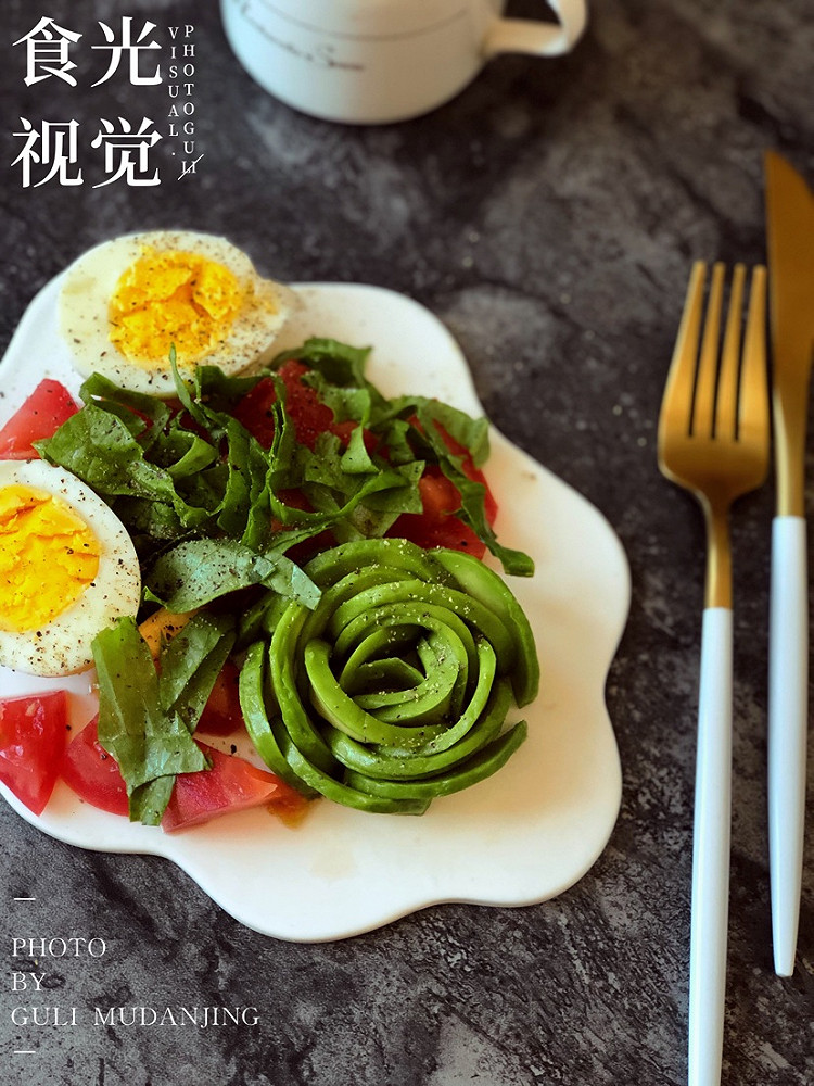
{"label": "peppered white of the upper egg half, without its yolk", "polygon": [[188,230],[153,230],[104,241],[65,272],[59,324],[80,374],[103,374],[136,392],[174,394],[168,357],[153,363],[131,362],[110,339],[111,299],[124,273],[148,250],[200,254],[228,268],[245,291],[240,313],[199,362],[219,366],[226,374],[240,374],[274,357],[275,341],[296,306],[293,291],[262,278],[250,257],[225,238]]}

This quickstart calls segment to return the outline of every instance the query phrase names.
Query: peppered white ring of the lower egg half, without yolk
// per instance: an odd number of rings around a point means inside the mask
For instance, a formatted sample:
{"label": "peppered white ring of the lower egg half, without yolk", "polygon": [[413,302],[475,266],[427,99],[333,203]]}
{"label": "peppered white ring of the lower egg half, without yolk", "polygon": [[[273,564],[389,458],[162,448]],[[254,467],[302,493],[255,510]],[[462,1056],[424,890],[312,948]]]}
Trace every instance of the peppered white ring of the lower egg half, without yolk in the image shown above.
{"label": "peppered white ring of the lower egg half, without yolk", "polygon": [[96,635],[125,615],[135,616],[141,596],[139,560],[113,509],[86,483],[44,460],[0,460],[0,487],[31,487],[52,494],[88,525],[101,547],[93,581],[69,607],[37,630],[0,630],[0,665],[40,677],[66,675],[93,662]]}

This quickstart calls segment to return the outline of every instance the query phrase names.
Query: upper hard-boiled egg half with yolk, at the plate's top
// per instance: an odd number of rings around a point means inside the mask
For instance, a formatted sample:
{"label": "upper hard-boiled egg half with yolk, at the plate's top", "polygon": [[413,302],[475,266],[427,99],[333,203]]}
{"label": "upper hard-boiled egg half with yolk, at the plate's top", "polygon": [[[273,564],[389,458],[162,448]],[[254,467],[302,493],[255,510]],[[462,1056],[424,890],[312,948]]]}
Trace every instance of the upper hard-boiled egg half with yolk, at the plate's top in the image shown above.
{"label": "upper hard-boiled egg half with yolk, at the plate's top", "polygon": [[225,238],[155,230],[102,242],[72,264],[59,319],[81,374],[171,395],[170,351],[181,375],[264,365],[294,304]]}

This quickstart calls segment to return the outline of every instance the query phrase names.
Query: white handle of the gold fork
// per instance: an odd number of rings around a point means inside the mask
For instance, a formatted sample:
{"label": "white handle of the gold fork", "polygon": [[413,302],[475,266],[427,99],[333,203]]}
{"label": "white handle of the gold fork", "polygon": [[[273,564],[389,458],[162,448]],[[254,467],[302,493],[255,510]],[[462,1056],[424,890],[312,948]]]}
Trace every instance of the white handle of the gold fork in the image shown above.
{"label": "white handle of the gold fork", "polygon": [[720,1086],[726,992],[732,790],[732,611],[708,607],[701,636],[692,909],[689,1086]]}

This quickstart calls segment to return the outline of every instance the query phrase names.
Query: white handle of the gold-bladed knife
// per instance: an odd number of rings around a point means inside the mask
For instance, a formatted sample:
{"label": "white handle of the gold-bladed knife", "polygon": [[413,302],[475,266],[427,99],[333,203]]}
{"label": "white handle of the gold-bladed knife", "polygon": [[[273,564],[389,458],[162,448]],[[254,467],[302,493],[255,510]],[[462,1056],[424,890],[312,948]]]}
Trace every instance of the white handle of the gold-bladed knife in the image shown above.
{"label": "white handle of the gold-bladed knife", "polygon": [[805,822],[809,586],[804,517],[775,517],[768,627],[768,866],[775,972],[794,971]]}

